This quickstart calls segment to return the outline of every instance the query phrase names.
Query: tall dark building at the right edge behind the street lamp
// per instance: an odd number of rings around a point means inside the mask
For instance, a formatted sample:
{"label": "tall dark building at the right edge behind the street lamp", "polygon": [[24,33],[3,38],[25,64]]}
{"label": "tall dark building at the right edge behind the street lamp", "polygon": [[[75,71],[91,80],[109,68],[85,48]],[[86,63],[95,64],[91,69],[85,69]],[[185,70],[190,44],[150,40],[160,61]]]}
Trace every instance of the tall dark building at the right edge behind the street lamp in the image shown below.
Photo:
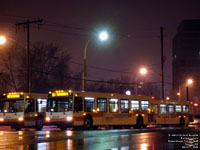
{"label": "tall dark building at the right edge behind the street lamp", "polygon": [[173,92],[178,99],[186,100],[187,79],[192,78],[189,86],[189,99],[200,100],[200,20],[184,20],[173,39]]}

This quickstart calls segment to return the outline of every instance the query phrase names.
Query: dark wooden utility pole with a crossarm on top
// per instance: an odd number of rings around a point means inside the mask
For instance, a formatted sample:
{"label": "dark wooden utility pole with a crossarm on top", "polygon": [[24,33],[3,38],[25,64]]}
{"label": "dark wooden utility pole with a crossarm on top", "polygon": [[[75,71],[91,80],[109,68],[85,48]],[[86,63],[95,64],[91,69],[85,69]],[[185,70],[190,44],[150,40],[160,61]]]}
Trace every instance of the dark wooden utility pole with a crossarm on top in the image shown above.
{"label": "dark wooden utility pole with a crossarm on top", "polygon": [[30,24],[34,24],[34,23],[41,23],[43,20],[42,19],[38,19],[38,20],[34,20],[34,21],[30,21],[27,20],[25,22],[20,22],[20,23],[16,23],[16,26],[25,26],[27,29],[27,62],[26,62],[26,69],[27,69],[27,76],[26,76],[26,92],[30,93],[31,92],[31,69],[30,69]]}

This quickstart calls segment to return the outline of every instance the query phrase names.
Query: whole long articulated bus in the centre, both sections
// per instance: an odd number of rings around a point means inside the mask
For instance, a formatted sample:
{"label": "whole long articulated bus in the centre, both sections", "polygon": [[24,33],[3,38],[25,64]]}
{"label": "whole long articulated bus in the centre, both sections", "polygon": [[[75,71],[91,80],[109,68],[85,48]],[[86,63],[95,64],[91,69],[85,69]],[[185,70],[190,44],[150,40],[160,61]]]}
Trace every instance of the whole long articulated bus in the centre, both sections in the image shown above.
{"label": "whole long articulated bus in the centre, both sections", "polygon": [[49,92],[45,124],[61,129],[82,126],[186,125],[193,120],[190,102],[152,96],[58,90]]}

